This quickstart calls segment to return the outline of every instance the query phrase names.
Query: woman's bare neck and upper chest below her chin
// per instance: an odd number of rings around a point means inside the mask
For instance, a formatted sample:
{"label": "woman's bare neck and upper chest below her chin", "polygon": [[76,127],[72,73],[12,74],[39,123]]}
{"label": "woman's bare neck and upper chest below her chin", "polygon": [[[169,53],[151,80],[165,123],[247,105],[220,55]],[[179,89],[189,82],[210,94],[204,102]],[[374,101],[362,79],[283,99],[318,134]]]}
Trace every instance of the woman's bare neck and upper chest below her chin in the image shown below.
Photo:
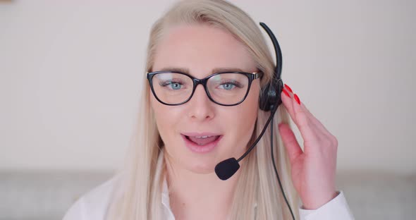
{"label": "woman's bare neck and upper chest below her chin", "polygon": [[240,171],[221,181],[212,173],[193,173],[165,157],[169,203],[176,219],[227,219]]}

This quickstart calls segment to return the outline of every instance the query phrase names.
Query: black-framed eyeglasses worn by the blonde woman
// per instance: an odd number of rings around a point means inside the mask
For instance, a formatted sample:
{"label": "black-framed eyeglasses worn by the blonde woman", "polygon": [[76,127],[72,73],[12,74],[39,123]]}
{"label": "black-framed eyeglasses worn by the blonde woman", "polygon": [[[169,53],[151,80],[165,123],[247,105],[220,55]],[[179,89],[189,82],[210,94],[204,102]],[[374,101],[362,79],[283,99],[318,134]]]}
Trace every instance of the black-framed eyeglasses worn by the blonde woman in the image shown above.
{"label": "black-framed eyeglasses worn by the blonde woman", "polygon": [[221,72],[203,79],[177,71],[147,73],[154,97],[162,104],[176,106],[188,102],[197,85],[202,84],[209,99],[221,106],[235,106],[244,101],[252,80],[261,78],[262,72]]}

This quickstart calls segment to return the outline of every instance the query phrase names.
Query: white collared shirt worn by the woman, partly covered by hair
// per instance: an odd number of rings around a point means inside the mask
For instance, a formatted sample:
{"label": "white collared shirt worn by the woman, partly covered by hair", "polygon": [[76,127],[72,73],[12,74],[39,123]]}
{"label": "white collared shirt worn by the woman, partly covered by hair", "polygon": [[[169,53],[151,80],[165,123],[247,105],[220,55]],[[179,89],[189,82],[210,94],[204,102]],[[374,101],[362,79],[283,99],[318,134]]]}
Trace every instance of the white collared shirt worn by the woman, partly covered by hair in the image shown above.
{"label": "white collared shirt worn by the woman, partly covered by hair", "polygon": [[[96,188],[90,190],[73,206],[68,209],[63,220],[104,220],[107,208],[110,203],[111,191],[114,188],[116,177],[102,183]],[[164,220],[175,220],[169,204],[169,193],[166,179],[163,183],[161,194],[161,203]],[[314,210],[307,210],[298,207],[300,220],[353,220],[353,214],[350,212],[347,201],[341,190],[339,194],[322,207]]]}

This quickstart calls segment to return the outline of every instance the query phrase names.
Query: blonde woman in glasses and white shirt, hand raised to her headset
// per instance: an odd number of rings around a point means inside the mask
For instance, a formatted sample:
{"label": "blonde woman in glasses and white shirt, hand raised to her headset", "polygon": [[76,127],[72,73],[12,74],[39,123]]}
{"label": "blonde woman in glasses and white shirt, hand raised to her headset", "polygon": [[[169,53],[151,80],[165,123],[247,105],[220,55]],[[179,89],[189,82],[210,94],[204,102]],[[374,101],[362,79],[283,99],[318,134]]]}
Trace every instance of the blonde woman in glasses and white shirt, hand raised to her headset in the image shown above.
{"label": "blonde woman in glasses and white shirt, hand raised to her headset", "polygon": [[274,61],[240,8],[218,0],[173,6],[152,27],[146,71],[126,166],[64,219],[353,219],[336,191],[336,138],[287,85],[271,123],[279,130],[273,152],[268,128],[231,178],[214,173],[219,162],[246,152],[270,116],[259,109],[259,97]]}

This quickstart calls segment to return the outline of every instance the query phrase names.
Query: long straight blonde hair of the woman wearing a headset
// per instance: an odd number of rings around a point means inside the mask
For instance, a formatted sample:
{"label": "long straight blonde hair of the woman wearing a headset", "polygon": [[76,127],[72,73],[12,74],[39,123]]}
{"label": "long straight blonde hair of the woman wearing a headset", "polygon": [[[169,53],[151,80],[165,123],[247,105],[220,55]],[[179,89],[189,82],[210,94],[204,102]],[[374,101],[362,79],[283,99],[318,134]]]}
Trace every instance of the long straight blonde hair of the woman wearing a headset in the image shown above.
{"label": "long straight blonde hair of the woman wearing a headset", "polygon": [[[245,45],[259,71],[264,73],[261,86],[264,87],[270,81],[274,74],[274,61],[259,27],[240,8],[221,0],[180,1],[159,18],[150,32],[145,71],[152,71],[155,50],[164,32],[173,25],[181,24],[208,24],[227,30]],[[145,90],[140,102],[137,130],[125,166],[118,171],[123,178],[121,185],[115,189],[118,193],[113,194],[107,219],[160,219],[161,184],[166,167],[164,160],[158,163],[158,157],[163,153],[163,142],[149,104],[149,96],[152,94],[145,77],[143,74]],[[299,198],[291,182],[290,162],[277,128],[279,123],[289,122],[283,104],[276,115],[276,135],[273,140],[276,168],[293,214],[298,219]],[[258,111],[255,131],[247,146],[258,137],[269,116],[269,111]],[[240,181],[235,188],[231,219],[291,219],[274,173],[269,146],[270,128],[267,128],[257,147],[245,158],[245,163],[240,168]],[[255,204],[256,209],[253,208]]]}

